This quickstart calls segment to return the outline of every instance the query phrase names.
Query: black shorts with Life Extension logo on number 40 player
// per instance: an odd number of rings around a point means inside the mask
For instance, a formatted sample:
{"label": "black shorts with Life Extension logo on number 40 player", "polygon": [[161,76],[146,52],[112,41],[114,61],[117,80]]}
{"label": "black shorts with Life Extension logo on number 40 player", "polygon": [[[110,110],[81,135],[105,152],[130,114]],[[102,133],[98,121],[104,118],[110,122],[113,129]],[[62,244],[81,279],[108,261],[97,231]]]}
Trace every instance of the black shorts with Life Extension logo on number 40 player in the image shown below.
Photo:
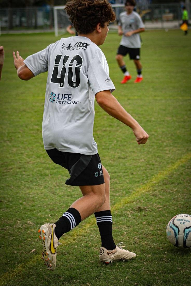
{"label": "black shorts with Life Extension logo on number 40 player", "polygon": [[50,159],[67,169],[70,179],[66,185],[95,186],[104,184],[103,169],[99,154],[83,155],[79,153],[61,152],[56,148],[46,150]]}

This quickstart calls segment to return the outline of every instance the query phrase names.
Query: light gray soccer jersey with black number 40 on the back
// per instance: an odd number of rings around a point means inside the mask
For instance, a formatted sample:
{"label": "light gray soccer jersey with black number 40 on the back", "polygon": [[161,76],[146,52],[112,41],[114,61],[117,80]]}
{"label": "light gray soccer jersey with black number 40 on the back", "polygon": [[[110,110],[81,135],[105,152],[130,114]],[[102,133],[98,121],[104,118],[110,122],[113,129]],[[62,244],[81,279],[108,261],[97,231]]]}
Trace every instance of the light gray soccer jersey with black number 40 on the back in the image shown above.
{"label": "light gray soccer jersey with black number 40 on the back", "polygon": [[42,137],[45,149],[93,155],[94,96],[115,90],[101,49],[86,37],[62,38],[27,57],[37,76],[48,71]]}

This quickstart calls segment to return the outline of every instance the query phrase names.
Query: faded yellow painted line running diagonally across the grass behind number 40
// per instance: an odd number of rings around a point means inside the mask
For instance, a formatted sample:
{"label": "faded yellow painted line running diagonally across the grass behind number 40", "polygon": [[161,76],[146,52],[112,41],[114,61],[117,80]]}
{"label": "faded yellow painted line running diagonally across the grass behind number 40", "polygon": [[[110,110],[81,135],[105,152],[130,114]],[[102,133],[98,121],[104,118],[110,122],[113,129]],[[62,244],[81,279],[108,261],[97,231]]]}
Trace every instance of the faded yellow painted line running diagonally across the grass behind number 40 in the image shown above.
{"label": "faded yellow painted line running diagonally across the grass behind number 40", "polygon": [[[159,183],[160,181],[164,180],[165,178],[167,178],[173,171],[175,171],[176,169],[178,169],[179,166],[181,166],[182,164],[186,163],[188,160],[191,159],[191,153],[187,153],[185,156],[183,156],[181,159],[179,159],[178,161],[176,161],[175,164],[170,165],[168,168],[166,168],[165,170],[163,170],[162,172],[159,172],[157,175],[153,176],[153,178],[151,178],[146,184],[144,184],[143,186],[137,188],[137,190],[135,190],[135,192],[133,192],[130,196],[128,197],[124,197],[120,200],[119,203],[116,203],[113,207],[112,207],[112,212],[115,212],[115,210],[118,210],[121,208],[121,206],[124,206],[125,204],[131,203],[131,202],[135,202],[136,199],[143,193],[145,192],[149,192],[150,190],[152,190],[152,187]],[[82,226],[80,229],[74,229],[71,233],[70,236],[67,238],[67,240],[63,240],[60,239],[60,242],[62,243],[62,245],[68,245],[69,243],[72,243],[75,241],[76,237],[79,235],[82,235],[83,233],[85,233],[85,231],[92,225],[94,225],[95,222],[95,218],[92,217],[90,218],[90,222],[87,223],[86,225]],[[11,281],[11,279],[13,279],[16,275],[21,275],[22,272],[24,271],[24,269],[27,269],[27,267],[30,267],[31,265],[34,265],[37,261],[39,261],[40,259],[40,255],[37,254],[35,255],[35,257],[33,259],[31,259],[30,261],[26,262],[26,263],[22,263],[20,265],[17,266],[16,269],[14,269],[13,271],[11,271],[11,273],[4,273],[1,276],[1,285],[8,285],[9,281]]]}

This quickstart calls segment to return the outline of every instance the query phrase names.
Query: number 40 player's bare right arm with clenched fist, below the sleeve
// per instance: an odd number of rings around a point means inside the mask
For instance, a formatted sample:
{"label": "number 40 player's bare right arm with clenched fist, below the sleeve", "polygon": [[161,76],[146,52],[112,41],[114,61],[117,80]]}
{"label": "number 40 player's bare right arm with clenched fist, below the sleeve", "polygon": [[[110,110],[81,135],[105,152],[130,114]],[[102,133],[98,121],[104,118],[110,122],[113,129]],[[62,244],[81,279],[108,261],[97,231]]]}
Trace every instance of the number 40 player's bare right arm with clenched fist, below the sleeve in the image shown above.
{"label": "number 40 player's bare right arm with clenched fist, below the sleeve", "polygon": [[109,115],[129,126],[136,137],[138,144],[145,144],[149,135],[139,123],[121,106],[109,90],[98,92],[95,95],[96,101]]}

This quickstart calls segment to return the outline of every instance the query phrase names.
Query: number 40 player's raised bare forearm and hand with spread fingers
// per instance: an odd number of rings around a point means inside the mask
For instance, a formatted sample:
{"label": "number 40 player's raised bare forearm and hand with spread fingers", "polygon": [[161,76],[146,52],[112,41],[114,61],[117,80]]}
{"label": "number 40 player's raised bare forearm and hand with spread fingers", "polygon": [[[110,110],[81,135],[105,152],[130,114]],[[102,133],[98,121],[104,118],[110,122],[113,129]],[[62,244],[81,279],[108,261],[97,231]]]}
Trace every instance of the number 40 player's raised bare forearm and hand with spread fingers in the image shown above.
{"label": "number 40 player's raised bare forearm and hand with spread fingers", "polygon": [[15,55],[15,52],[13,52],[13,59],[15,68],[17,70],[17,76],[21,80],[30,80],[31,78],[34,78],[34,74],[25,65],[25,63],[23,63],[24,59],[19,55],[18,51],[17,51],[17,56]]}

